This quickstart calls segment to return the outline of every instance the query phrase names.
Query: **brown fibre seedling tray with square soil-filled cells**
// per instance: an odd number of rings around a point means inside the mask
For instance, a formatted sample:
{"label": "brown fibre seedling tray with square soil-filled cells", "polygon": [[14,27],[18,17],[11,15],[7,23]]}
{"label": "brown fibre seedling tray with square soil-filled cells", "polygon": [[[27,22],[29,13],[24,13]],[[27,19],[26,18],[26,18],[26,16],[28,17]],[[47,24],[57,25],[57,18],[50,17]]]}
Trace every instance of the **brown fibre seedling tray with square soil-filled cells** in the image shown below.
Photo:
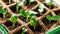
{"label": "brown fibre seedling tray with square soil-filled cells", "polygon": [[[42,14],[35,15],[36,19],[38,20],[38,25],[35,30],[33,30],[33,27],[29,25],[28,22],[24,21],[24,18],[20,15],[20,13],[16,12],[16,3],[12,2],[8,4],[8,0],[0,0],[0,4],[2,5],[3,9],[8,9],[8,14],[6,15],[6,18],[3,19],[2,16],[0,16],[0,23],[4,25],[4,27],[7,29],[9,34],[21,34],[21,29],[23,27],[28,28],[28,31],[26,34],[45,34],[45,32],[53,29],[54,27],[60,25],[60,20],[57,21],[51,21],[50,23],[46,19],[46,15],[59,15],[60,16],[60,7],[57,6],[55,3],[51,4],[51,8],[45,5],[44,0],[35,0],[30,6],[20,6],[19,9],[24,9],[25,11],[28,10],[34,10],[37,11],[38,6],[40,4],[44,4],[44,12]],[[16,24],[16,26],[13,28],[12,23],[9,21],[9,18],[12,14],[17,14],[19,19]],[[1,14],[0,14],[1,15]]]}

